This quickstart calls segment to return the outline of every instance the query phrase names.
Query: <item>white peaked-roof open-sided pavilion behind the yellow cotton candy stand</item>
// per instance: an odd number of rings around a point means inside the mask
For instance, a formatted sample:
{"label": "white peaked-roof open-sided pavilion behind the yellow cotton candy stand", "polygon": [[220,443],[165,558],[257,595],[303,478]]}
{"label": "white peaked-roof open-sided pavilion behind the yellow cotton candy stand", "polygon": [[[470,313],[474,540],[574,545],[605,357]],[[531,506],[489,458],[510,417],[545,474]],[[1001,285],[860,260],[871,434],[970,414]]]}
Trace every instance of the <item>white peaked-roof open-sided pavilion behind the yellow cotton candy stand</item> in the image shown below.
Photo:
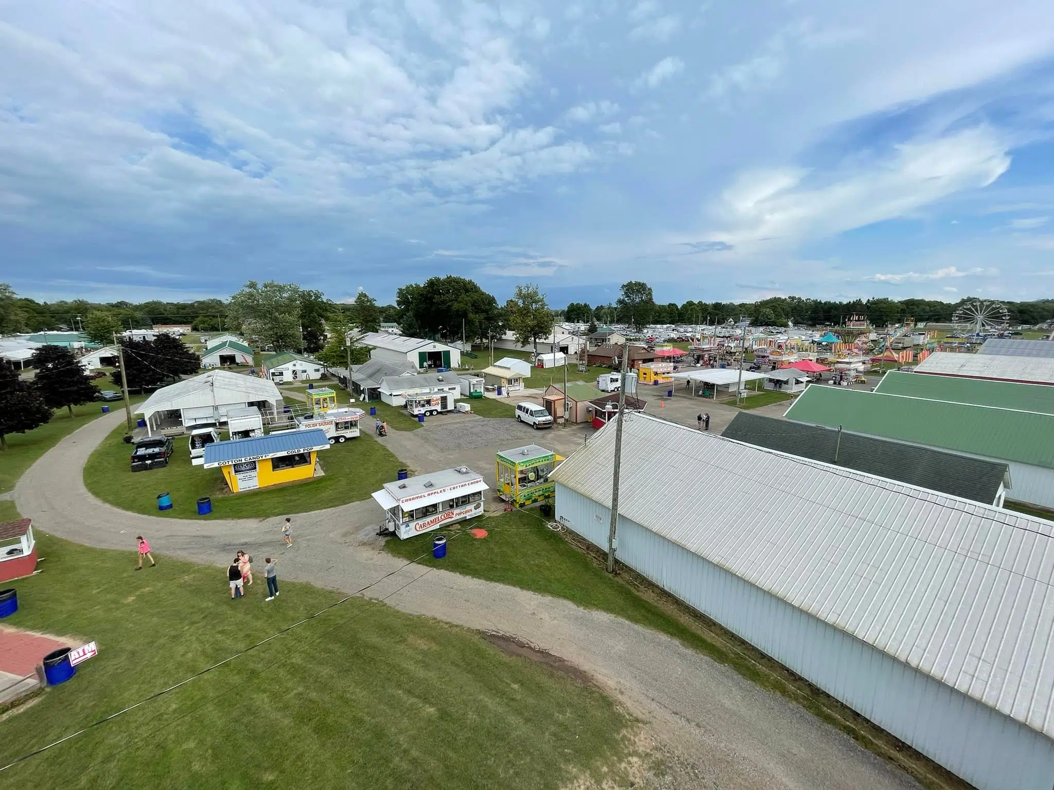
{"label": "white peaked-roof open-sided pavilion behind the yellow cotton candy stand", "polygon": [[231,408],[277,409],[281,394],[272,381],[230,371],[213,370],[162,387],[136,410],[147,420],[147,433],[162,428],[184,429],[204,422],[226,422]]}

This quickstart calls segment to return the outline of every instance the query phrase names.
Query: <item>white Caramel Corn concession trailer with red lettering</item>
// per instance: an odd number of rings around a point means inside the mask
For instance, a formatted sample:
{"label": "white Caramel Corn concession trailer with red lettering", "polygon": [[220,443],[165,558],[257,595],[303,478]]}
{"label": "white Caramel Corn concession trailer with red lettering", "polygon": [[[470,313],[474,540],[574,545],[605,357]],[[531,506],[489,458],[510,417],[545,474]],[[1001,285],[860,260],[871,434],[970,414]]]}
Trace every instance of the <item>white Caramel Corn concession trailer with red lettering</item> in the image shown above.
{"label": "white Caramel Corn concession trailer with red lettering", "polygon": [[490,487],[468,467],[386,482],[373,500],[385,510],[380,534],[406,539],[483,515],[483,492]]}

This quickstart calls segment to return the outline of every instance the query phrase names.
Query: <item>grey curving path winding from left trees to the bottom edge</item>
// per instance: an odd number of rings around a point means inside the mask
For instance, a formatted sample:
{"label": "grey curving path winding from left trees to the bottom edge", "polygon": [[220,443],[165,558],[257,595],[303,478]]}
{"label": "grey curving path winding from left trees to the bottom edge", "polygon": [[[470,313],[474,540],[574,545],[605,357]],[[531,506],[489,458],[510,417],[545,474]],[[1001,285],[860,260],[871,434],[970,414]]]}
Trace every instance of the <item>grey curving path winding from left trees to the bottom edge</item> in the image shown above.
{"label": "grey curving path winding from left trees to the bottom edge", "polygon": [[[38,530],[124,550],[130,573],[135,564],[134,538],[141,533],[161,555],[217,566],[217,595],[226,594],[223,566],[238,548],[248,548],[257,558],[265,553],[277,555],[284,578],[335,590],[351,592],[396,571],[371,588],[371,596],[383,597],[417,579],[388,604],[470,628],[514,634],[589,672],[648,723],[650,733],[670,757],[668,787],[916,786],[783,697],[666,636],[603,612],[504,585],[438,570],[427,572],[417,566],[397,570],[402,560],[378,551],[373,533],[380,512],[372,501],[294,516],[294,547],[289,550],[282,549],[278,533],[280,518],[197,521],[112,508],[87,493],[81,469],[122,418],[111,414],[90,422],[22,476],[15,498],[19,511],[33,518]],[[426,426],[399,435],[392,443],[408,449],[423,439],[417,434],[429,430]],[[532,437],[528,430],[522,443],[530,443]],[[572,438],[569,433],[568,440]],[[417,457],[404,460],[427,462],[429,447],[434,445],[422,443]],[[446,466],[451,465],[432,468]],[[489,476],[488,469],[481,471]],[[451,546],[451,551],[456,547]]]}

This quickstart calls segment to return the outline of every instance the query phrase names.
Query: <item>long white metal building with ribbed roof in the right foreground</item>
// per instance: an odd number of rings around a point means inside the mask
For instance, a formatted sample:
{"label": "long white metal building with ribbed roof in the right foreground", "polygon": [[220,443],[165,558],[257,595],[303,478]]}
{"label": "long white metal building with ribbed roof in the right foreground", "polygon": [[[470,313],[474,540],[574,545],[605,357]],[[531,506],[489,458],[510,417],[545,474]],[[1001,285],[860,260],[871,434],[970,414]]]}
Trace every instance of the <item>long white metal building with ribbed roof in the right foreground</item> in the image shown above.
{"label": "long white metal building with ribbed roof in the right foreground", "polygon": [[[557,469],[606,548],[614,428]],[[618,556],[982,788],[1054,776],[1054,524],[645,414]]]}

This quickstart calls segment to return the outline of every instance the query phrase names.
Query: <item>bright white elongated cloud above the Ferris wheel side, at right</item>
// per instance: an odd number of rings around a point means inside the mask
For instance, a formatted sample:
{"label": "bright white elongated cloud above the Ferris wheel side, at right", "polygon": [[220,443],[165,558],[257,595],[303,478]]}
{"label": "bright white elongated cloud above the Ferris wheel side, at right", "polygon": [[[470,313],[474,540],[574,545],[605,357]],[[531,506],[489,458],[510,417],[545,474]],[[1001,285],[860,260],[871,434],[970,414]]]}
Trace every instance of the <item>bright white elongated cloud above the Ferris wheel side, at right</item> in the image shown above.
{"label": "bright white elongated cloud above the Ferris wheel side, at right", "polygon": [[1007,145],[978,126],[896,145],[882,158],[854,157],[832,172],[778,167],[742,174],[716,209],[736,246],[762,239],[822,238],[910,215],[964,190],[987,186],[1010,166]]}

